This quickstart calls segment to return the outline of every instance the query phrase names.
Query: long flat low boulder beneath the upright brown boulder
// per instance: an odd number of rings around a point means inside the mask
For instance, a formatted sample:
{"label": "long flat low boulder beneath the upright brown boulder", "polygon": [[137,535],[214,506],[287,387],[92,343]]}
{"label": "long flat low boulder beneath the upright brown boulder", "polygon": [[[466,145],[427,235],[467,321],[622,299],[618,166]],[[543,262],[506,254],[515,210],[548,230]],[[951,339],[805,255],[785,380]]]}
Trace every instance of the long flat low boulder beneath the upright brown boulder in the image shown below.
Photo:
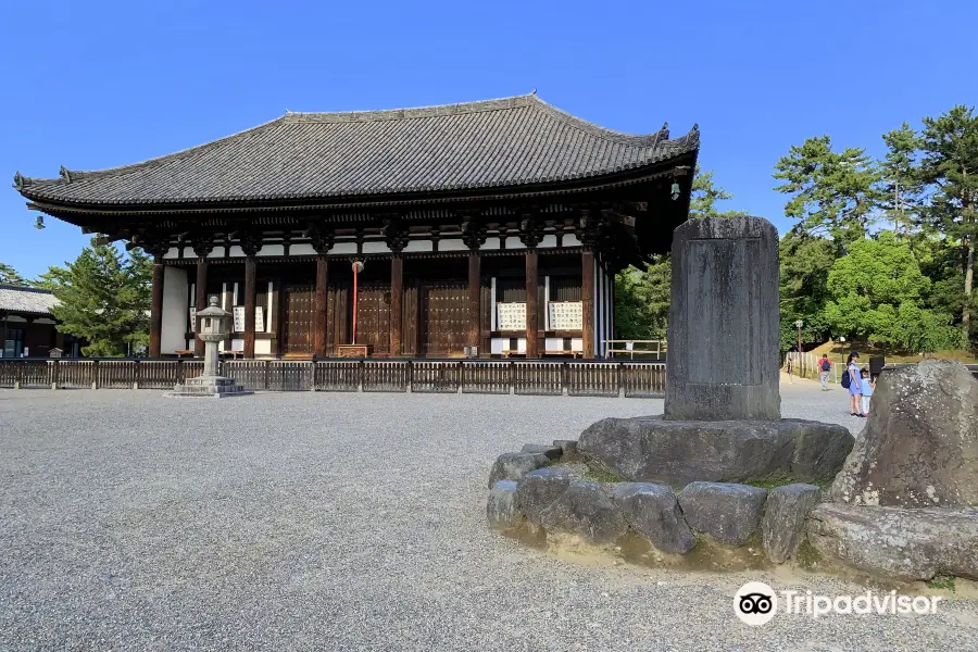
{"label": "long flat low boulder beneath the upright brown boulder", "polygon": [[808,542],[830,561],[882,579],[978,579],[978,510],[822,503]]}

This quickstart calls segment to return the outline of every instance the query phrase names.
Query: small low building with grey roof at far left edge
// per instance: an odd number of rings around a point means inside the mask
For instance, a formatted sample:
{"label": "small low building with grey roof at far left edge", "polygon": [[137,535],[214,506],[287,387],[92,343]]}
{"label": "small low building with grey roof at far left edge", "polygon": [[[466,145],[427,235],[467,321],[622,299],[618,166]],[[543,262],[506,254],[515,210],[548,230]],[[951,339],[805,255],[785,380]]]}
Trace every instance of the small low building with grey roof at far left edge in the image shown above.
{"label": "small low building with grey roof at far left edge", "polygon": [[50,290],[0,285],[0,358],[47,358],[51,349],[77,356],[78,347],[57,329]]}

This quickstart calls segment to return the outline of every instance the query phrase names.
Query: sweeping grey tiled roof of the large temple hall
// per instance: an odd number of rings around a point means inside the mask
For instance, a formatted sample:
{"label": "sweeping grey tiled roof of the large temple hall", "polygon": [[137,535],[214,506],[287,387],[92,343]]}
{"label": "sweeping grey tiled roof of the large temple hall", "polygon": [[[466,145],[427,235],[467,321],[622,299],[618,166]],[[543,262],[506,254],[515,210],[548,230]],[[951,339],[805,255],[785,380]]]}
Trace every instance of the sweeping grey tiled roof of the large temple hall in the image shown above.
{"label": "sweeping grey tiled roof of the large temple hall", "polygon": [[535,95],[423,109],[287,113],[181,152],[61,178],[20,175],[28,199],[152,204],[475,190],[588,179],[654,165],[699,147],[694,126],[631,136]]}

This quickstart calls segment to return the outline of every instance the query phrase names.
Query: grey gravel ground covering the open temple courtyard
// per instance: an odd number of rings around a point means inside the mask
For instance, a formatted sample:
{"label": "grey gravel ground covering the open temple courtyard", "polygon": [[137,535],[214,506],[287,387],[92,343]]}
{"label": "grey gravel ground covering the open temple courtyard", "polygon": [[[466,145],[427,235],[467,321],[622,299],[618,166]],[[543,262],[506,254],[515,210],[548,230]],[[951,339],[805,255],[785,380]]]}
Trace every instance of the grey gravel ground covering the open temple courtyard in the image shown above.
{"label": "grey gravel ground covering the open temple courtyard", "polygon": [[[842,390],[786,416],[852,428]],[[0,649],[976,650],[931,616],[732,614],[749,579],[549,556],[488,531],[494,457],[662,401],[0,390]]]}

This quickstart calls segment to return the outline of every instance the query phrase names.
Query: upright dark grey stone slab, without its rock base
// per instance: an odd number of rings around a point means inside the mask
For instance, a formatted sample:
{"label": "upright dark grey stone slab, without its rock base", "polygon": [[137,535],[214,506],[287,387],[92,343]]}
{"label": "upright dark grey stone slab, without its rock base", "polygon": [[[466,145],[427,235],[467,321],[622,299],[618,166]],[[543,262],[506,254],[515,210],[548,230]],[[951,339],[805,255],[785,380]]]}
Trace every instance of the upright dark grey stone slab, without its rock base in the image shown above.
{"label": "upright dark grey stone slab, without its rock base", "polygon": [[761,217],[679,225],[670,301],[665,418],[780,418],[774,225]]}

